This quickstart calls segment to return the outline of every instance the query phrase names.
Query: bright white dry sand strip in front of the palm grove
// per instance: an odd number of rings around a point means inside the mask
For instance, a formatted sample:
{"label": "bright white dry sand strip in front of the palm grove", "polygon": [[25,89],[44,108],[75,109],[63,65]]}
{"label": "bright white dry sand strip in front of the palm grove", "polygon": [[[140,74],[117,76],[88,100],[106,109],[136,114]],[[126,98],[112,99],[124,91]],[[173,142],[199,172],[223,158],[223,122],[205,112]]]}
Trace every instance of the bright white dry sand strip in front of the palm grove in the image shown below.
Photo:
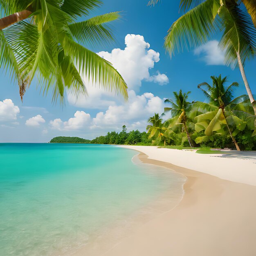
{"label": "bright white dry sand strip in front of the palm grove", "polygon": [[256,158],[218,157],[221,155],[198,154],[194,150],[177,150],[154,146],[121,147],[138,150],[148,155],[149,159],[207,173],[224,180],[256,186]]}

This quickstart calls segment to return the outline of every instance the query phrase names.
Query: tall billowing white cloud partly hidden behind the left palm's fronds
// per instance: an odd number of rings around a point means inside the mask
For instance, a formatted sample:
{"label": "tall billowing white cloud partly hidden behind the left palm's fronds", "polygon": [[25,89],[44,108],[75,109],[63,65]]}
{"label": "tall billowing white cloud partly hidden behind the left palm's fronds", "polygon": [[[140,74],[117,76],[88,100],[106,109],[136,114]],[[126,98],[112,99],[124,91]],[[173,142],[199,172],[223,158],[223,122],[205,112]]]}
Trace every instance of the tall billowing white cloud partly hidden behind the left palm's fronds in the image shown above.
{"label": "tall billowing white cloud partly hidden behind the left palm's fronds", "polygon": [[[149,70],[154,67],[160,58],[158,52],[149,49],[150,44],[144,40],[143,36],[128,34],[125,37],[125,44],[124,49],[117,48],[111,52],[99,52],[97,54],[112,63],[126,81],[128,90],[139,91],[143,80],[159,83],[160,85],[169,82],[166,74],[160,72],[157,72],[157,75],[150,76]],[[84,80],[88,97],[79,96],[76,98],[72,93],[67,92],[67,100],[71,105],[97,109],[114,105],[117,98],[114,98],[113,93],[95,88],[91,81],[86,78]]]}

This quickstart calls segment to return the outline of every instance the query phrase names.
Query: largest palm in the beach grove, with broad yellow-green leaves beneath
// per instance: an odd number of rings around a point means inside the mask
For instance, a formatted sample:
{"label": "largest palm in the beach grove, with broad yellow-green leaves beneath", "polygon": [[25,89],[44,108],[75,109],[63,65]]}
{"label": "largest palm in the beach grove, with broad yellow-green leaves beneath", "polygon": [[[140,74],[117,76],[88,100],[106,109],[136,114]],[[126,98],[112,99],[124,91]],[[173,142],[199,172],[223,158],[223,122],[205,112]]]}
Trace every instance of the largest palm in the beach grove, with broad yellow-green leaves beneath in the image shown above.
{"label": "largest palm in the beach grove, with broad yellow-green leaves beneath", "polygon": [[[227,127],[236,149],[240,150],[234,136],[246,127],[250,130],[255,129],[254,110],[248,102],[248,96],[242,95],[233,99],[234,88],[238,86],[238,83],[234,82],[226,87],[227,76],[224,78],[221,75],[218,77],[211,76],[211,79],[213,85],[206,82],[198,85],[198,88],[209,99],[209,103],[197,102],[193,104],[191,115],[196,116],[194,119],[196,122],[195,130],[196,132],[204,130],[206,136],[211,136],[216,131],[218,133],[224,132],[224,128]],[[207,89],[204,90],[202,86]],[[198,115],[200,113],[201,115]],[[231,132],[231,126],[233,132]],[[200,137],[200,140],[203,139],[203,137]],[[199,138],[197,141],[199,141]]]}

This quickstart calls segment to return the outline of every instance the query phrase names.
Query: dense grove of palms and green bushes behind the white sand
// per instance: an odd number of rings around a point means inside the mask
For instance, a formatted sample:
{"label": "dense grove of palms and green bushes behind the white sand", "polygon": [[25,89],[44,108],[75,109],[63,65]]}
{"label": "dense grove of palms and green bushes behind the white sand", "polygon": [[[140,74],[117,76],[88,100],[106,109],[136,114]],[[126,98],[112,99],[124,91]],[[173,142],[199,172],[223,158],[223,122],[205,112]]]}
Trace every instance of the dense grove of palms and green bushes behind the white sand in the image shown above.
{"label": "dense grove of palms and green bushes behind the white sand", "polygon": [[[200,83],[208,102],[189,102],[189,94],[173,92],[174,99],[166,99],[171,107],[164,113],[165,121],[155,113],[148,119],[148,136],[153,145],[207,146],[256,150],[254,109],[247,95],[234,99],[238,83],[227,86],[227,77],[211,76],[212,85]],[[163,117],[164,117],[163,113]]]}

